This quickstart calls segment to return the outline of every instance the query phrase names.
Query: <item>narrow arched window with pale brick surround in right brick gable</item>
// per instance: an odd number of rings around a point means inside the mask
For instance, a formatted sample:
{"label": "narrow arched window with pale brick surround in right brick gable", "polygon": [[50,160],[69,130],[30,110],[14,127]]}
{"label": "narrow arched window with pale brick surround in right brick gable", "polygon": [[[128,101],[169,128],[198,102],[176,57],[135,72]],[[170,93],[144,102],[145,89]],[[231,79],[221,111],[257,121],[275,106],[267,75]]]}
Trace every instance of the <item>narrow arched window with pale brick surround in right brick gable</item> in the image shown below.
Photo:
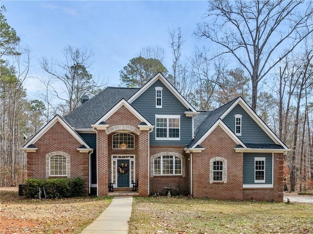
{"label": "narrow arched window with pale brick surround in right brick gable", "polygon": [[227,160],[224,157],[210,159],[210,183],[227,182]]}

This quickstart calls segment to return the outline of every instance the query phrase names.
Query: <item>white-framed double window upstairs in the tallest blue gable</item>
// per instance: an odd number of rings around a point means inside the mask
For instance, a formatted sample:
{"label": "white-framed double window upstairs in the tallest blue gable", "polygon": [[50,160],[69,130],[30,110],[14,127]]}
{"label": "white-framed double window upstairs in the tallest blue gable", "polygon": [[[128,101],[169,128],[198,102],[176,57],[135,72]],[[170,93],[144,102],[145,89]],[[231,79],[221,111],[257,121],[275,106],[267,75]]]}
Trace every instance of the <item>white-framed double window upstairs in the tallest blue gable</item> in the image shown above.
{"label": "white-framed double window upstairs in the tallest blue gable", "polygon": [[180,116],[156,115],[156,140],[180,139]]}

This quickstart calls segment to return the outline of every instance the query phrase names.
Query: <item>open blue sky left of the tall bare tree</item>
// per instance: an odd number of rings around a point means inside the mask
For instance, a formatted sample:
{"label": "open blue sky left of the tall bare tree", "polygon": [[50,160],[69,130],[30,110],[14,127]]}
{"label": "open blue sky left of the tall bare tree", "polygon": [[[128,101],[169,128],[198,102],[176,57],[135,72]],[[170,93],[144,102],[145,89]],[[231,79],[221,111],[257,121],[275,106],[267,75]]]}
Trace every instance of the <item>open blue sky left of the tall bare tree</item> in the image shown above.
{"label": "open blue sky left of the tall bare tree", "polygon": [[[180,27],[183,54],[207,43],[193,35],[203,21],[206,1],[13,1],[2,0],[5,17],[31,49],[30,75],[43,77],[39,60],[62,60],[67,45],[93,52],[91,74],[119,84],[119,71],[147,46],[166,51],[164,65],[170,69],[169,28]],[[28,95],[40,89],[36,78],[25,83]]]}

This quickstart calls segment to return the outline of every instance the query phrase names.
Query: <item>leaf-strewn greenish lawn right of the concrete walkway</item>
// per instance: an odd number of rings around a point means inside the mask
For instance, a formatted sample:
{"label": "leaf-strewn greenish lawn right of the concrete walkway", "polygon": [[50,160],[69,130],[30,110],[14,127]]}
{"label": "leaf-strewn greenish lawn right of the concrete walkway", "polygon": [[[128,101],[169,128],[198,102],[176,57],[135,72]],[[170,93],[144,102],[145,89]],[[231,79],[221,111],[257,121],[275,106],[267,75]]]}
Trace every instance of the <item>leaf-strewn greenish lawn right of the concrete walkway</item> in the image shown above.
{"label": "leaf-strewn greenish lawn right of the concrete walkway", "polygon": [[313,204],[134,198],[130,234],[313,233]]}

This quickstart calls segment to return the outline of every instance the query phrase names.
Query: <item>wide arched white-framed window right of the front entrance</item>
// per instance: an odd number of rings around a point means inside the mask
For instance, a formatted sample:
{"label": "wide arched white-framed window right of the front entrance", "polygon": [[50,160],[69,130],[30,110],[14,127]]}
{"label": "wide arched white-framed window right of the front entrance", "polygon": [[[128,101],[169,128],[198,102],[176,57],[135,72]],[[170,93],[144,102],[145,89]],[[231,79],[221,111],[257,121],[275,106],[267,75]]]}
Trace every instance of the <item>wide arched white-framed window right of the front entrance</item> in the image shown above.
{"label": "wide arched white-framed window right of the front entrance", "polygon": [[177,156],[159,156],[154,159],[154,175],[182,175],[182,160]]}

